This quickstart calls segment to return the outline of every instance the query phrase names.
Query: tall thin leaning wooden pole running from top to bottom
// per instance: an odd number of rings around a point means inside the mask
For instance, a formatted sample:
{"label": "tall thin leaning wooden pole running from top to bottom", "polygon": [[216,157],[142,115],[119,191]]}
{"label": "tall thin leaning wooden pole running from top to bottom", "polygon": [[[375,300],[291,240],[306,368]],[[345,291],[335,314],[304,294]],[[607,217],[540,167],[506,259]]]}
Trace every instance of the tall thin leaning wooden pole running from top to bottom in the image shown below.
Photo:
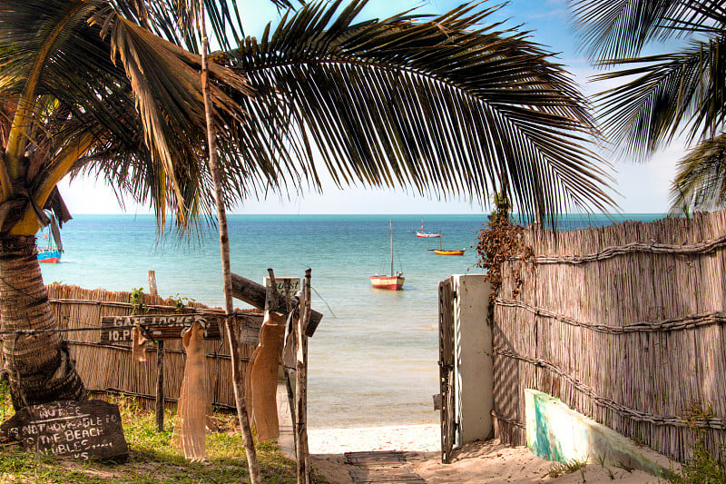
{"label": "tall thin leaning wooden pole running from top to bottom", "polygon": [[257,452],[255,451],[254,440],[252,439],[252,430],[250,429],[250,417],[247,413],[247,405],[244,400],[244,382],[242,380],[242,372],[240,368],[240,347],[237,344],[237,337],[231,327],[230,316],[234,312],[234,304],[232,302],[232,279],[230,270],[230,237],[227,232],[227,213],[224,207],[224,198],[221,189],[221,174],[217,160],[217,140],[212,123],[211,99],[209,92],[209,75],[207,71],[207,53],[209,50],[209,40],[207,39],[207,27],[204,19],[204,2],[200,0],[200,29],[201,29],[201,89],[204,94],[204,114],[207,121],[207,146],[210,150],[210,172],[211,179],[214,183],[214,199],[217,203],[217,220],[220,227],[220,251],[221,251],[221,275],[224,286],[224,308],[228,317],[225,321],[225,330],[227,341],[230,344],[231,354],[231,370],[232,370],[232,388],[234,390],[234,400],[237,402],[237,416],[240,420],[240,428],[242,430],[242,440],[244,441],[245,454],[247,455],[247,465],[250,469],[250,481],[252,484],[260,484],[260,464],[257,461]]}

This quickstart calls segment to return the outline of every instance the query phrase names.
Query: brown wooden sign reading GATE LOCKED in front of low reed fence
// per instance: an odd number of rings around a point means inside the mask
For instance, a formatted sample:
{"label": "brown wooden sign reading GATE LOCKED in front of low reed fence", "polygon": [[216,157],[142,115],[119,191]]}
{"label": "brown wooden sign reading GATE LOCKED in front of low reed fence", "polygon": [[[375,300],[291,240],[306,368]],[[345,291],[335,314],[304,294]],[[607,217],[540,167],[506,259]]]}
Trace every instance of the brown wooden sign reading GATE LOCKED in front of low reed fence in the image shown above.
{"label": "brown wooden sign reading GATE LOCKED in front of low reed fence", "polygon": [[220,323],[223,315],[204,314],[143,314],[141,316],[103,316],[101,318],[101,342],[113,344],[119,341],[132,341],[132,328],[136,323],[151,340],[178,340],[182,331],[191,323],[200,321],[204,328],[204,339],[219,340]]}

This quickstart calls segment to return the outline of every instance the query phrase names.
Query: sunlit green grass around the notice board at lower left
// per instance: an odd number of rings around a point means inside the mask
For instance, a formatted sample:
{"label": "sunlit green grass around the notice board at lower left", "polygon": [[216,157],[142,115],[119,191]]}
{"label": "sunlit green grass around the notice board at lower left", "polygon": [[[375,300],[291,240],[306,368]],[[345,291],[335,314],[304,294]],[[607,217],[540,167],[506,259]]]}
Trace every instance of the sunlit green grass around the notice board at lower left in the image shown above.
{"label": "sunlit green grass around the notice board at lower left", "polygon": [[[2,395],[0,395],[0,400]],[[54,459],[25,452],[18,446],[0,450],[0,483],[239,483],[250,482],[244,445],[235,415],[215,412],[211,421],[217,429],[207,435],[207,460],[191,463],[182,450],[172,443],[172,430],[177,423],[176,413],[167,410],[163,432],[156,431],[154,413],[143,410],[136,400],[118,398],[123,421],[123,433],[129,444],[129,460],[124,464],[104,464],[77,460]],[[12,405],[5,398],[5,416],[9,418]],[[288,484],[296,482],[295,461],[286,459],[277,442],[258,443],[262,482]],[[314,473],[316,484],[327,481]]]}

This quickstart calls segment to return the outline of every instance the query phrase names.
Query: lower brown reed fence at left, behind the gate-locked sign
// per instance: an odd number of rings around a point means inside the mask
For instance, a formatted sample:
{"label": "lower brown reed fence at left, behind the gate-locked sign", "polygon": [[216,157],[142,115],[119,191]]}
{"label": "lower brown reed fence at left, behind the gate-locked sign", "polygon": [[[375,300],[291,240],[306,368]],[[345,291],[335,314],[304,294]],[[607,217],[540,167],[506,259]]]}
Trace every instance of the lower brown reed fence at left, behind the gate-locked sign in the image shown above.
{"label": "lower brown reed fence at left, behind the gate-locked sign", "polygon": [[[46,286],[51,308],[61,328],[101,327],[103,316],[125,316],[132,313],[131,292],[111,292],[103,289],[86,290],[78,286],[50,284]],[[88,301],[95,301],[89,303]],[[143,295],[143,303],[150,306],[148,314],[171,314],[173,301],[159,296]],[[194,310],[212,310],[191,302]],[[186,311],[186,312],[191,312]],[[259,311],[250,311],[259,313]],[[147,348],[146,361],[133,363],[131,343],[119,342],[113,346],[98,344],[100,331],[73,331],[64,334],[68,340],[76,369],[89,391],[123,392],[140,397],[142,403],[153,405],[156,395],[156,349]],[[231,388],[231,359],[227,341],[204,341],[207,351],[207,371],[211,384],[213,404],[222,408],[235,408]],[[254,346],[242,345],[241,356],[249,358]],[[179,399],[184,375],[182,340],[164,342],[164,394],[167,406],[175,406]],[[243,363],[242,370],[244,371]]]}

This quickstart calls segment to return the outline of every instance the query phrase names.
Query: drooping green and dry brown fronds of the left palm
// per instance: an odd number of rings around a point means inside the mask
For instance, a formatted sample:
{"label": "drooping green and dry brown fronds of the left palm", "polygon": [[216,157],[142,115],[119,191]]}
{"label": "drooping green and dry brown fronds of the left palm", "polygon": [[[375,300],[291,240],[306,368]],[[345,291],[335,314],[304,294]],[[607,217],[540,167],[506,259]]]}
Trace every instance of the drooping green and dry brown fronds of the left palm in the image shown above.
{"label": "drooping green and dry brown fronds of the left palm", "polygon": [[[0,23],[0,91],[16,100],[27,90],[43,33],[78,5],[82,12],[54,41],[34,88],[39,107],[26,140],[32,178],[24,183],[45,186],[57,174],[58,153],[91,133],[97,141],[84,162],[93,160],[95,165],[86,164],[86,169],[107,174],[134,198],[152,202],[160,222],[169,209],[183,223],[213,208],[211,181],[200,163],[206,145],[200,57],[152,35],[109,5],[0,2],[6,13]],[[246,114],[226,91],[250,95],[248,84],[218,64],[211,64],[210,73],[218,122],[244,123]],[[236,166],[225,174],[240,176]],[[240,183],[226,185],[232,189]],[[243,193],[231,190],[229,196],[239,201]]]}

